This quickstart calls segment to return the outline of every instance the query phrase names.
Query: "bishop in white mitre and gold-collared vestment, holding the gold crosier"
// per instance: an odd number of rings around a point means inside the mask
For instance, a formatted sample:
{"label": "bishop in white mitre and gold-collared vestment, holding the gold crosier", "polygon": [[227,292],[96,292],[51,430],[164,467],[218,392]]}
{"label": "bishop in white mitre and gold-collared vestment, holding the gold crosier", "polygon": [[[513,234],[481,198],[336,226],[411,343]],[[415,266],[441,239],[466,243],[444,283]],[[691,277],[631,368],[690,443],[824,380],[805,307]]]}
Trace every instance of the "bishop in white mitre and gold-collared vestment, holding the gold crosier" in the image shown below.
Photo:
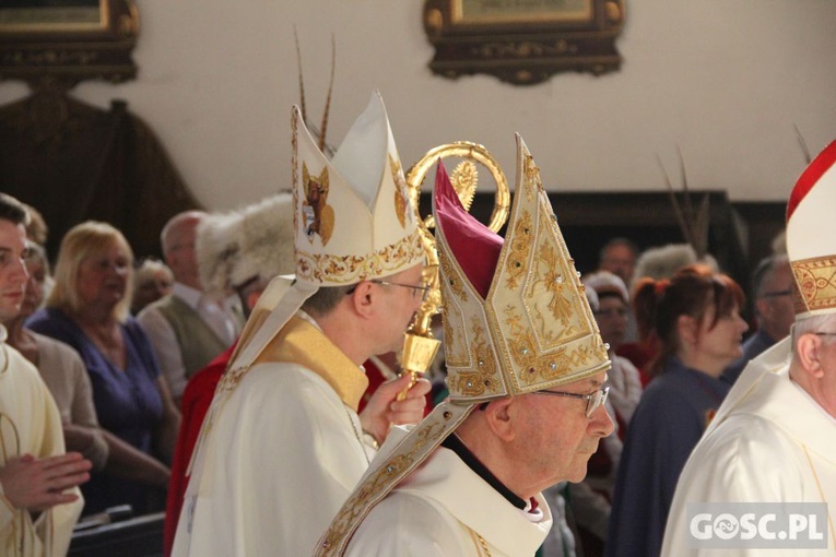
{"label": "bishop in white mitre and gold-collared vestment, holding the gold crosier", "polygon": [[363,362],[400,349],[424,251],[379,93],[329,161],[293,111],[295,281],[259,298],[195,449],[173,555],[309,555],[392,424],[429,382],[404,376],[362,414]]}

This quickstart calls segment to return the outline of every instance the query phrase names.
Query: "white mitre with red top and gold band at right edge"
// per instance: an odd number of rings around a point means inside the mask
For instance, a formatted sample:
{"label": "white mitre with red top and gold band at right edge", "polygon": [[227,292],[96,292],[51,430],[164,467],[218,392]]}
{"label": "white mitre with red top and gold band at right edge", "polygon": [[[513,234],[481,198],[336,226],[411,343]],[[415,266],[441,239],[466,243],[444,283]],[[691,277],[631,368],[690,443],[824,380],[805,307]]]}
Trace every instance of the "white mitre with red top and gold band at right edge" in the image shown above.
{"label": "white mitre with red top and gold band at right edge", "polygon": [[836,141],[801,174],[787,203],[787,252],[796,285],[796,317],[836,311]]}

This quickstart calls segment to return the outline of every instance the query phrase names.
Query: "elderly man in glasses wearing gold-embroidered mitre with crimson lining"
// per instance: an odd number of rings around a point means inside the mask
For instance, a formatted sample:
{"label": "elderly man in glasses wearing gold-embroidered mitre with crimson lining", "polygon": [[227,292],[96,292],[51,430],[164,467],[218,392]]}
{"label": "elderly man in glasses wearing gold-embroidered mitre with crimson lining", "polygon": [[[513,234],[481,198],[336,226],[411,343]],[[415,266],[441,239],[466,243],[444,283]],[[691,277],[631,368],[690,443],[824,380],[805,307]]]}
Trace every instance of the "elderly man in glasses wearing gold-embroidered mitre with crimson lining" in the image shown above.
{"label": "elderly man in glasses wearing gold-embroidered mitre with crimson lining", "polygon": [[450,396],[393,428],[318,556],[533,556],[552,526],[541,491],[586,475],[613,424],[610,367],[540,174],[517,137],[505,239],[434,191]]}

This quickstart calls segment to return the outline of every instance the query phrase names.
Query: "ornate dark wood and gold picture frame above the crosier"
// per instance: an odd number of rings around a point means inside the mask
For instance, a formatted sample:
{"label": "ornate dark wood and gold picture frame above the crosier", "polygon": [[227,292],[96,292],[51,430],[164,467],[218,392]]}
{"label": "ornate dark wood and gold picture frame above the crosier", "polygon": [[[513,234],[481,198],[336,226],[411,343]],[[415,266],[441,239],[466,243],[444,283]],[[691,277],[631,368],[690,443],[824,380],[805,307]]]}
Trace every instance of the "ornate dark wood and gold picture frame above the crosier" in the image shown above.
{"label": "ornate dark wood and gold picture frame above the crosier", "polygon": [[487,73],[531,85],[564,71],[621,68],[615,39],[624,0],[426,0],[424,29],[434,73]]}

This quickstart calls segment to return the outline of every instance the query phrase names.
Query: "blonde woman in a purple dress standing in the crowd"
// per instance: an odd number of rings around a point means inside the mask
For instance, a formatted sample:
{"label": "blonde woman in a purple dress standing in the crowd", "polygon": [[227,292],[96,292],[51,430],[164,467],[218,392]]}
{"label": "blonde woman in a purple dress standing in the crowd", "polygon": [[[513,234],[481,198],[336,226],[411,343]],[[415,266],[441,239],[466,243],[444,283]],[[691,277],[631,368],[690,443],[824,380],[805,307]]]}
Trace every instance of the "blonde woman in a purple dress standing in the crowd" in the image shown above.
{"label": "blonde woman in a purple dress standing in the crowd", "polygon": [[[179,412],[160,377],[145,333],[129,315],[133,254],[125,236],[106,223],[86,222],[67,233],[55,270],[55,287],[46,308],[26,327],[72,346],[93,386],[101,425],[149,455],[152,466],[170,462]],[[165,469],[167,473],[167,469]],[[121,475],[121,474],[120,474]],[[129,503],[136,513],[156,510],[160,495],[146,485],[116,474],[96,474],[82,489],[84,513]],[[151,499],[151,500],[150,500]]]}

